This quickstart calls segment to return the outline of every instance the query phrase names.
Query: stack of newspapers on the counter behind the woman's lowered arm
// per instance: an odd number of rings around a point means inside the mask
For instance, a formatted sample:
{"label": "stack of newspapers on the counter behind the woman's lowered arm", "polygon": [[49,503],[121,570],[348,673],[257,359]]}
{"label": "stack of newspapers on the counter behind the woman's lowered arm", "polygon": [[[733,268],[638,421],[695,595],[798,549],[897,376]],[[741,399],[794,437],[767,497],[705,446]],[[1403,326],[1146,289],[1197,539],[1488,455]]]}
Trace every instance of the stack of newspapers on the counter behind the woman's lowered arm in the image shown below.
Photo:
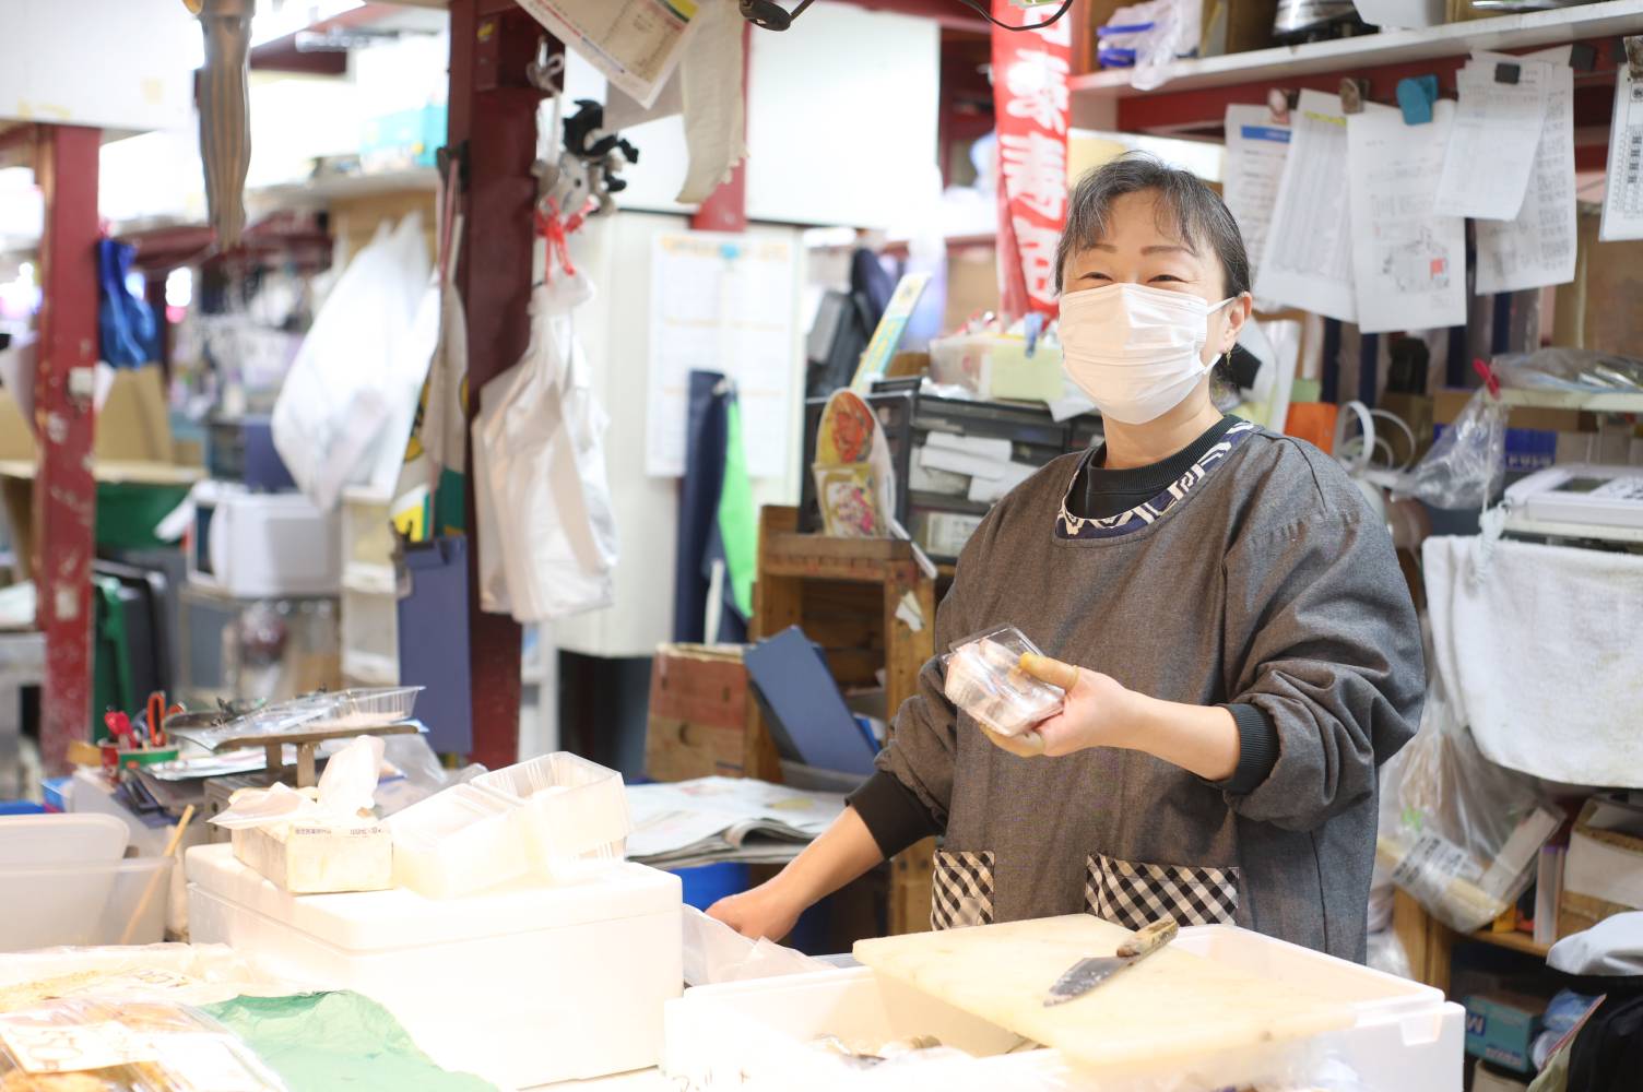
{"label": "stack of newspapers on the counter behind the woman's lowered arm", "polygon": [[657,869],[720,860],[782,864],[845,811],[838,793],[800,793],[752,778],[629,785],[628,859]]}

